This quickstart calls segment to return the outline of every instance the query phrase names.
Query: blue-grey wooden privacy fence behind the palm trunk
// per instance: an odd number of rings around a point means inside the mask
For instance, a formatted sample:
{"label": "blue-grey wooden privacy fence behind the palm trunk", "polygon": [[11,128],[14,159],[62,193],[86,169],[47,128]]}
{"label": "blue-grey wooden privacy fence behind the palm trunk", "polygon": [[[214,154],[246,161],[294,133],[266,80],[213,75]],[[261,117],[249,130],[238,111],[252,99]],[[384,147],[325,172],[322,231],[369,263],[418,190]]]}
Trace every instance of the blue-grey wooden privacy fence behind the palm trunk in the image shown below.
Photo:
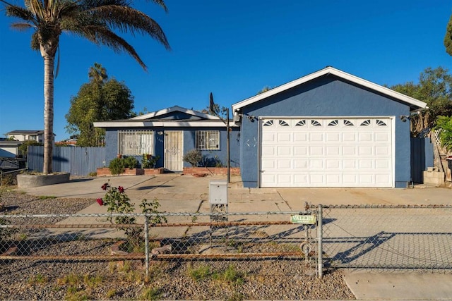
{"label": "blue-grey wooden privacy fence behind the palm trunk", "polygon": [[[44,147],[28,147],[28,169],[42,172]],[[53,171],[87,176],[105,165],[105,147],[54,147]]]}

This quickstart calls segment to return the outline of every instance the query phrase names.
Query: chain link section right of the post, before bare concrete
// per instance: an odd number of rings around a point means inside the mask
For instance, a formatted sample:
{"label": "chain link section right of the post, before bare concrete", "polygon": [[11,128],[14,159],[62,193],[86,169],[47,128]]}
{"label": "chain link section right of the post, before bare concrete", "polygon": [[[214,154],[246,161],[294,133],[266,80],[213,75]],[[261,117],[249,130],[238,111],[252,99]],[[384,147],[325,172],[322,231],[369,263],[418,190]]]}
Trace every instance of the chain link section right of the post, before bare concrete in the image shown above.
{"label": "chain link section right of the post, before bare concrete", "polygon": [[323,208],[325,266],[376,271],[452,271],[452,207]]}

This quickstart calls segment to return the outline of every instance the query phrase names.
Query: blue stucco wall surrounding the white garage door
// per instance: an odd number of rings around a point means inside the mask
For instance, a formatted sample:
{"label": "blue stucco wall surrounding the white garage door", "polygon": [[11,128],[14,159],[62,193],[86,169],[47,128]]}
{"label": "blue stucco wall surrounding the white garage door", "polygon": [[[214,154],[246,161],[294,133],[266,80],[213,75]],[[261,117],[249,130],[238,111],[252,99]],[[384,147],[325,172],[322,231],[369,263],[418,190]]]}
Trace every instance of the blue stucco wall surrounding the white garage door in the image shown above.
{"label": "blue stucco wall surrounding the white garage door", "polygon": [[395,187],[410,181],[410,123],[398,116],[410,108],[374,91],[338,80],[333,75],[275,94],[242,108],[240,161],[244,187],[258,187],[258,125],[255,116],[396,116]]}

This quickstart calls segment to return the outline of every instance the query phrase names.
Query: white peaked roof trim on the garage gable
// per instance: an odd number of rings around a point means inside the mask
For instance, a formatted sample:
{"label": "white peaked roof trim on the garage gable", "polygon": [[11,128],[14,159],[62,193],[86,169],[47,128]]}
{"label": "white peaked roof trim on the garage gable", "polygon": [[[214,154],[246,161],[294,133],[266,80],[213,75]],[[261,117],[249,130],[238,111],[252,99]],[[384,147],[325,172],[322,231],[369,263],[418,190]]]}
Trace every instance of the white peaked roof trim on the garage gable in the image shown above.
{"label": "white peaked roof trim on the garage gable", "polygon": [[368,80],[364,80],[362,78],[358,78],[355,75],[351,75],[349,73],[345,73],[341,70],[335,69],[333,67],[326,67],[322,70],[319,70],[317,72],[311,73],[309,75],[306,75],[302,78],[299,78],[297,80],[292,80],[292,82],[287,82],[287,84],[280,85],[279,87],[275,87],[271,90],[268,90],[267,92],[263,92],[261,94],[257,94],[254,97],[250,97],[248,99],[243,100],[242,102],[237,102],[237,104],[232,105],[232,111],[236,111],[237,109],[241,109],[244,106],[248,106],[249,104],[254,104],[254,102],[259,102],[262,99],[265,99],[267,97],[270,97],[272,95],[278,94],[280,92],[283,92],[285,90],[289,90],[292,87],[296,87],[297,85],[302,85],[305,82],[309,82],[309,80],[314,80],[315,78],[319,78],[323,75],[327,74],[333,74],[338,76],[339,78],[343,78],[345,80],[349,80],[350,82],[355,82],[357,85],[362,85],[363,87],[368,87],[371,90],[375,90],[377,92],[380,92],[382,94],[388,95],[390,97],[394,97],[396,99],[399,99],[402,102],[406,102],[408,104],[412,104],[414,106],[418,106],[422,109],[427,107],[427,104],[425,102],[421,102],[420,100],[414,99],[412,97],[409,97],[405,94],[396,92],[394,90],[388,89],[387,87],[383,87],[381,85],[377,85],[374,82],[369,82]]}

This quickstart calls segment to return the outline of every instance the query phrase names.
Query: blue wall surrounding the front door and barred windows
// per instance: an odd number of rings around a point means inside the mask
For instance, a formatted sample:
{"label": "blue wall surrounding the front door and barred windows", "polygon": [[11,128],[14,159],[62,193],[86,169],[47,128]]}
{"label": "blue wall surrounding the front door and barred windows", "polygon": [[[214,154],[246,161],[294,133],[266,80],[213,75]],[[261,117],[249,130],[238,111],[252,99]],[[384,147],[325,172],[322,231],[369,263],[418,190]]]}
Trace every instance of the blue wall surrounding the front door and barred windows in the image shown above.
{"label": "blue wall surrounding the front door and barred windows", "polygon": [[[105,163],[109,165],[109,161],[117,157],[118,153],[118,130],[124,128],[108,128],[105,134]],[[131,130],[131,128],[127,128]],[[215,156],[226,166],[227,164],[227,132],[225,128],[139,128],[140,130],[154,130],[154,149],[153,155],[160,156],[159,161],[155,167],[162,167],[164,165],[165,156],[165,135],[157,135],[159,131],[165,130],[182,130],[184,135],[184,154],[196,147],[196,130],[220,130],[220,150],[202,151],[203,156],[207,159],[215,158]],[[240,166],[240,149],[239,149],[239,128],[231,128],[230,132],[230,161],[231,167]],[[141,162],[141,156],[135,156]],[[184,162],[184,167],[189,167],[190,164]]]}

